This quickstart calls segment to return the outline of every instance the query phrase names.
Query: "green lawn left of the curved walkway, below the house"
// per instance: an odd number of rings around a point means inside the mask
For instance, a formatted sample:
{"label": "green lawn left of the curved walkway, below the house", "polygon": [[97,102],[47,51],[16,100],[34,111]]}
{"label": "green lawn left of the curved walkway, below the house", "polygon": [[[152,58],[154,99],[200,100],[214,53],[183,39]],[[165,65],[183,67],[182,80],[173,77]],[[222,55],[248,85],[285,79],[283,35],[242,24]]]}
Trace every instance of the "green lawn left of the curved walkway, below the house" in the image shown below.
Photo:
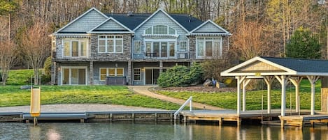
{"label": "green lawn left of the curved walkway, below the house", "polygon": [[[134,107],[178,109],[178,104],[148,98],[126,86],[41,86],[41,104],[122,104]],[[0,107],[30,104],[30,90],[0,86]]]}

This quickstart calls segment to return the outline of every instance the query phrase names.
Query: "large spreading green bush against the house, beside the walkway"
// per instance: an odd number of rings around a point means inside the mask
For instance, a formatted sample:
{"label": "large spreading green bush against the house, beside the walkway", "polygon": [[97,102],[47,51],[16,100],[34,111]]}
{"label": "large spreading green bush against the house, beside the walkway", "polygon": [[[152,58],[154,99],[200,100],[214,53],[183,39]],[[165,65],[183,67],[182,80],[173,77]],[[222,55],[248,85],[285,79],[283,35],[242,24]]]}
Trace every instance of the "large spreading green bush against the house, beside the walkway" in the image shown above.
{"label": "large spreading green bush against the house, beside the walkway", "polygon": [[157,83],[162,87],[190,86],[190,84],[199,83],[203,72],[201,65],[194,63],[190,68],[183,65],[177,65],[166,72],[161,72]]}

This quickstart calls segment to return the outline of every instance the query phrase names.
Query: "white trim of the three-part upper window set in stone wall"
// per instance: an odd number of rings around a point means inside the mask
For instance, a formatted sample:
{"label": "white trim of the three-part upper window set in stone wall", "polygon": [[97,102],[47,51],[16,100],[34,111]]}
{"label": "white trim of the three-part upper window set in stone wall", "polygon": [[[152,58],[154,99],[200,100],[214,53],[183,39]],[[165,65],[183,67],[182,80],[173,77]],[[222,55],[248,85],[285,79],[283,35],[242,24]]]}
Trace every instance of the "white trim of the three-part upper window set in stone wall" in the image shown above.
{"label": "white trim of the three-part upper window set in stone wall", "polygon": [[[100,36],[106,36],[106,38],[99,38]],[[114,36],[114,38],[108,38],[108,36]],[[122,35],[117,35],[117,36],[122,36]],[[122,38],[116,38],[116,35],[99,35],[98,36],[98,53],[99,54],[104,54],[104,53],[123,53],[123,47],[124,47],[124,36]],[[105,52],[99,52],[99,40],[105,40]],[[113,52],[108,52],[108,46],[107,46],[107,40],[113,40]],[[122,50],[120,52],[116,51],[116,41],[115,40],[122,40]]]}

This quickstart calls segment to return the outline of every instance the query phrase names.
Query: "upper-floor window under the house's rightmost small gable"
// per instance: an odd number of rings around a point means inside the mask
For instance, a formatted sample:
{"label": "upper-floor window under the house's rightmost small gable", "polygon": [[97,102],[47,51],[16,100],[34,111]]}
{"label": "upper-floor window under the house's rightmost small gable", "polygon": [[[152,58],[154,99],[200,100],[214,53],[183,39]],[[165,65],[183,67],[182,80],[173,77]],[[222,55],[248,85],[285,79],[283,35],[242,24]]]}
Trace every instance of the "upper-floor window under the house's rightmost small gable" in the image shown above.
{"label": "upper-floor window under the house's rightmost small gable", "polygon": [[221,38],[197,38],[197,58],[205,59],[222,56]]}

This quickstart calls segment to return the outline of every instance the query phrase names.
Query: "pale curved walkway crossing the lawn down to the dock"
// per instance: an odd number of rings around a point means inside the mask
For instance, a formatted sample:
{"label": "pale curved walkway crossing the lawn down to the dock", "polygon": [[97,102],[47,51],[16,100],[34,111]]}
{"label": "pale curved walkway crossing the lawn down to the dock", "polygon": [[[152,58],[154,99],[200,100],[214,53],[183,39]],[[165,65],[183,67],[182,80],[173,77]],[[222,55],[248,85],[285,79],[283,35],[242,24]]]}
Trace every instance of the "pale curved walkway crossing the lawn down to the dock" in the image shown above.
{"label": "pale curved walkway crossing the lawn down to the dock", "polygon": [[[159,100],[165,100],[165,101],[173,102],[173,103],[180,104],[180,105],[182,105],[186,101],[186,100],[182,100],[182,99],[178,99],[178,98],[172,98],[167,95],[152,93],[151,91],[149,91],[149,88],[154,88],[154,87],[155,86],[128,86],[128,88],[131,91],[134,91],[134,93],[139,93],[141,95],[147,95],[151,98],[157,98]],[[199,102],[194,102],[194,101],[192,101],[192,107],[196,107],[198,109],[223,110],[220,107],[213,107],[208,104],[201,104]]]}

